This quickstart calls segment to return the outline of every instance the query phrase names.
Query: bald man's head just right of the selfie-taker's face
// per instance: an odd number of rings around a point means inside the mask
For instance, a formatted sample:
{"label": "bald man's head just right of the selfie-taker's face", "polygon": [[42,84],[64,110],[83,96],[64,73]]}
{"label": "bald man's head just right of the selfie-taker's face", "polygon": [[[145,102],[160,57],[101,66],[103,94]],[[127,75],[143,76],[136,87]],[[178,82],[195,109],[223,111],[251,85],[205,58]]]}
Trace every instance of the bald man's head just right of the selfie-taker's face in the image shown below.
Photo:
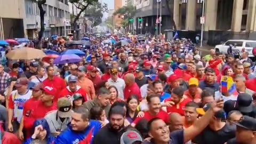
{"label": "bald man's head just right of the selfie-taker's face", "polygon": [[178,113],[169,114],[169,130],[170,132],[183,129],[184,117]]}

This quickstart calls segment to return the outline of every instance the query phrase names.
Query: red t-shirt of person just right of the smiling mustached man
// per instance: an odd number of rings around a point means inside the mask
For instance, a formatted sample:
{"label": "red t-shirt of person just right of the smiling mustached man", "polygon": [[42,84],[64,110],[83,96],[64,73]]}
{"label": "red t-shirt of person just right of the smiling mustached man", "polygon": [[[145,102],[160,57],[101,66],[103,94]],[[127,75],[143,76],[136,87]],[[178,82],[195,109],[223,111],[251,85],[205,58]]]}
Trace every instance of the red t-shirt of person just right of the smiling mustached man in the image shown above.
{"label": "red t-shirt of person just right of the smiling mustached man", "polygon": [[[171,101],[171,98],[166,99],[164,102],[166,102],[166,101]],[[179,113],[181,116],[184,116],[185,106],[190,101],[192,101],[192,100],[191,99],[183,99],[183,101],[181,101],[177,105],[167,107],[167,113]]]}

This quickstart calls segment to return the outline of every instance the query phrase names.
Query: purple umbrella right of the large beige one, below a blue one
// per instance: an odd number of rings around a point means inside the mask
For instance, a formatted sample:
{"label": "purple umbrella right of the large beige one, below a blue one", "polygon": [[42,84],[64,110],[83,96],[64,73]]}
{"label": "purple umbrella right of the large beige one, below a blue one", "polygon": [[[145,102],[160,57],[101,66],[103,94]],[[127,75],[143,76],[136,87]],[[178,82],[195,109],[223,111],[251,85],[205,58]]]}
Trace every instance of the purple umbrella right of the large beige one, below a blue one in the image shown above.
{"label": "purple umbrella right of the large beige one, below a blue one", "polygon": [[65,64],[65,63],[75,63],[80,62],[82,58],[80,58],[76,54],[63,54],[54,60],[55,64]]}

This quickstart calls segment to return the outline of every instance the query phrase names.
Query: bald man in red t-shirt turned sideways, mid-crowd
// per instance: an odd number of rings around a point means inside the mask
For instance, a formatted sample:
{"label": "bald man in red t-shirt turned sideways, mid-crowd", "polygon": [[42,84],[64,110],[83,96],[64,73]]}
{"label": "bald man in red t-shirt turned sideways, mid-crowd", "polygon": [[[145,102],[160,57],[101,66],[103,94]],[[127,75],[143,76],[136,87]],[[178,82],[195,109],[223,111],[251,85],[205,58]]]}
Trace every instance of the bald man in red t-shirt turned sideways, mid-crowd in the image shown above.
{"label": "bald man in red t-shirt turned sideways, mid-crowd", "polygon": [[131,95],[137,95],[141,100],[140,87],[135,83],[135,76],[133,74],[126,74],[124,76],[124,99],[125,101],[131,97]]}

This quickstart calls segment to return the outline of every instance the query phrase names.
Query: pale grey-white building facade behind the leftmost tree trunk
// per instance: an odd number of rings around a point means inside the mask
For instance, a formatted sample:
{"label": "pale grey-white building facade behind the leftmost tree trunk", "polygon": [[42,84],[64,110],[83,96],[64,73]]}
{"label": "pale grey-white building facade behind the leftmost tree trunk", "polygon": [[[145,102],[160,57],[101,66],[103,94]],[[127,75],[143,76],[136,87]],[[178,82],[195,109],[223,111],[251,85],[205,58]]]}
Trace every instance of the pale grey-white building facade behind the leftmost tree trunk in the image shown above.
{"label": "pale grey-white building facade behind the leftmost tree trunk", "polygon": [[[70,33],[70,12],[68,0],[51,0],[43,4],[45,11],[44,17],[44,35],[60,35]],[[37,3],[32,0],[25,0],[25,18],[24,26],[26,29],[26,37],[32,39],[38,37],[38,31],[41,28],[40,15]],[[66,33],[65,33],[66,26]]]}

